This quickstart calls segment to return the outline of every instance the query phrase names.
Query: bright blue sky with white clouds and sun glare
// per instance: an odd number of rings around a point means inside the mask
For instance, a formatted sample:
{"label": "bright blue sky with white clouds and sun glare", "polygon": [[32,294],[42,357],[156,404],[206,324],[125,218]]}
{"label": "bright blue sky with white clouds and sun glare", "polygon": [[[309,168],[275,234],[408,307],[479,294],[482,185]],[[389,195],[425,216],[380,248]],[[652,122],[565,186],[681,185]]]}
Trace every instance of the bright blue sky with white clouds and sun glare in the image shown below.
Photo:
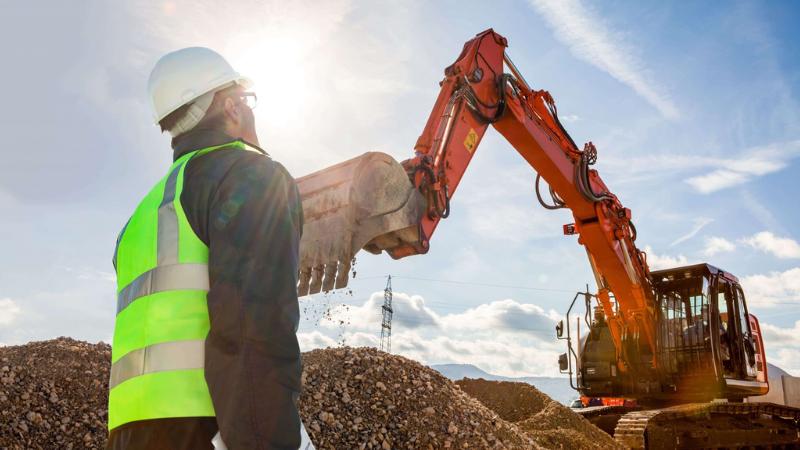
{"label": "bright blue sky with white clouds and sun glare", "polygon": [[[146,97],[163,53],[209,46],[250,75],[262,144],[301,176],[370,150],[411,156],[443,68],[492,27],[575,140],[597,145],[651,265],[737,274],[769,360],[800,375],[796,5],[217,3],[0,5],[0,343],[111,336],[116,234],[171,158]],[[430,253],[360,255],[352,292],[302,299],[303,347],[374,345],[391,273],[397,352],[553,374],[554,321],[592,277],[534,176],[488,133]]]}

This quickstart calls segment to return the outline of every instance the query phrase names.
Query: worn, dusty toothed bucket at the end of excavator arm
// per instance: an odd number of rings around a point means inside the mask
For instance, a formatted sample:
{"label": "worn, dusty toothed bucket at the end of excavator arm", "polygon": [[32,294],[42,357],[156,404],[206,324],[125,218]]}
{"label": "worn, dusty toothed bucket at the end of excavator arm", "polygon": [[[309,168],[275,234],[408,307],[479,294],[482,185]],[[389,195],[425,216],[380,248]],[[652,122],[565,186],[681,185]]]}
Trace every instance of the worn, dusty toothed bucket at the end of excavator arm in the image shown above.
{"label": "worn, dusty toothed bucket at the end of excavator arm", "polygon": [[298,295],[347,286],[362,248],[419,240],[422,196],[391,156],[369,152],[297,180],[303,202]]}

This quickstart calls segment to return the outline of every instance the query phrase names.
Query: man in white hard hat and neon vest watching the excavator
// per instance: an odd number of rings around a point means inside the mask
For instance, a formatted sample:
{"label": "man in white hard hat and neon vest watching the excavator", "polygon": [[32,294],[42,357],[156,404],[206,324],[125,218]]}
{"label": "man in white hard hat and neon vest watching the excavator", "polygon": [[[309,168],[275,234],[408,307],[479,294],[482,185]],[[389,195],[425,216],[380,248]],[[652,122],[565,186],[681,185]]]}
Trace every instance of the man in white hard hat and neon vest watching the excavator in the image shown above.
{"label": "man in white hard hat and neon vest watching the excavator", "polygon": [[150,75],[174,162],[114,252],[109,449],[300,445],[302,207],[259,148],[250,87],[207,48],[169,53]]}

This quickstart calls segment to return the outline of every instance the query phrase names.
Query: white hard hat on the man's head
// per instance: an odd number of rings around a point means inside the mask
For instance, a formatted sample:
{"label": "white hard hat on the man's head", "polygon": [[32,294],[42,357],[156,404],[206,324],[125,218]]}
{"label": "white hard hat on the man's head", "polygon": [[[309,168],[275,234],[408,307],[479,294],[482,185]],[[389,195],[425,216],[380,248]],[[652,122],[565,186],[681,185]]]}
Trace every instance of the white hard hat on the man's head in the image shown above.
{"label": "white hard hat on the man's head", "polygon": [[201,95],[236,83],[250,88],[253,82],[233,70],[219,53],[205,47],[187,47],[158,60],[147,91],[156,123]]}

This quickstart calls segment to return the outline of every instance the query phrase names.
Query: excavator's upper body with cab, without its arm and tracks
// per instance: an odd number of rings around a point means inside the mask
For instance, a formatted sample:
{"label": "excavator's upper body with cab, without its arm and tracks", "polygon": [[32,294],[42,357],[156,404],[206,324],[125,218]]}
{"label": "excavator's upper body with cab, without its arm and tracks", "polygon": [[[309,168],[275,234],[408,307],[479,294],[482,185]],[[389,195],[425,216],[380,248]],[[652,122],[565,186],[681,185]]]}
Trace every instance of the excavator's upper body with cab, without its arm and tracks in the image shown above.
{"label": "excavator's upper body with cab, without its arm and tracks", "polygon": [[608,320],[595,307],[577,351],[562,355],[562,367],[569,366],[567,355],[575,358],[576,388],[583,395],[700,402],[767,392],[761,330],[735,276],[697,264],[651,272],[651,281],[659,341],[656,368],[642,372],[620,366]]}

